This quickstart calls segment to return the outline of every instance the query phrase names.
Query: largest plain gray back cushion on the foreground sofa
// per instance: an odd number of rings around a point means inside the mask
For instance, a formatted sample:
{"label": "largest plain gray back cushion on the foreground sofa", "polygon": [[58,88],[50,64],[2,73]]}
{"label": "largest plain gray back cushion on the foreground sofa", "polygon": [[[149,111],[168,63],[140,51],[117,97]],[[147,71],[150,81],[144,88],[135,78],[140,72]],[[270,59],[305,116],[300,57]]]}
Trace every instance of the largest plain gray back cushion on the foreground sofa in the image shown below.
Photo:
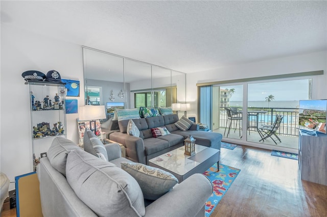
{"label": "largest plain gray back cushion on the foreground sofa", "polygon": [[67,181],[75,194],[97,215],[145,215],[141,188],[119,167],[76,150],[67,156],[66,171]]}

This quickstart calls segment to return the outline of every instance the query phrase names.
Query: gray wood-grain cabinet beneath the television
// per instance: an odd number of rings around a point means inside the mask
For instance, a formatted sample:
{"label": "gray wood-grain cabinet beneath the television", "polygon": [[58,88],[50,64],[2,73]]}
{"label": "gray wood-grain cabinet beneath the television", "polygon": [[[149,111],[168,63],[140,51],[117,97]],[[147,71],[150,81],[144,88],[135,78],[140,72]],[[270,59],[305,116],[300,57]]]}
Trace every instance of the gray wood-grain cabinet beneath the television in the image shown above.
{"label": "gray wood-grain cabinet beneath the television", "polygon": [[299,131],[298,168],[301,179],[327,185],[327,134]]}

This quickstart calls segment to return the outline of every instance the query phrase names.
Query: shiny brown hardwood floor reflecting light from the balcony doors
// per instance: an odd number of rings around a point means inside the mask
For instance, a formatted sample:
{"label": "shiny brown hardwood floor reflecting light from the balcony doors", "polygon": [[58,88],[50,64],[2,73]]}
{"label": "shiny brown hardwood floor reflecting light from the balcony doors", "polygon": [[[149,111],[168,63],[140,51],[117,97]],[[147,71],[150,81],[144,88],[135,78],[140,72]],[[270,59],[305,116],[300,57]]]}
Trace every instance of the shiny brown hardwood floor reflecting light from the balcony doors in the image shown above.
{"label": "shiny brown hardwood floor reflecting light from the balcony doors", "polygon": [[[327,186],[302,181],[297,160],[270,153],[241,145],[234,150],[221,149],[220,163],[241,172],[212,217],[327,216]],[[16,216],[16,209],[5,203],[2,216]]]}

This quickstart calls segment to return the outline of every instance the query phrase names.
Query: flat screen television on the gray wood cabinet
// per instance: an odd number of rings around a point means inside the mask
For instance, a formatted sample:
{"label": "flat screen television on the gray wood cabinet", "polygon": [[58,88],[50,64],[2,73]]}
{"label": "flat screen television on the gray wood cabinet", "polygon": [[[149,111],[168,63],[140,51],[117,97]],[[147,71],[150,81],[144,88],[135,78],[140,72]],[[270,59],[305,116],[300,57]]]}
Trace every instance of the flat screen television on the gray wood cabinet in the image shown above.
{"label": "flat screen television on the gray wood cabinet", "polygon": [[327,99],[299,101],[299,128],[326,133]]}

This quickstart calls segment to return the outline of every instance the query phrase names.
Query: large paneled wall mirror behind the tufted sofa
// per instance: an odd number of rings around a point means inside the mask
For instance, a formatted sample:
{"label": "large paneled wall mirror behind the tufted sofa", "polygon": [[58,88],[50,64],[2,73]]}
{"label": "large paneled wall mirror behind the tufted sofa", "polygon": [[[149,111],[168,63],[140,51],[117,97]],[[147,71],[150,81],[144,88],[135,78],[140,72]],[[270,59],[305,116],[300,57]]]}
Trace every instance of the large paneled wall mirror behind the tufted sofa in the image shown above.
{"label": "large paneled wall mirror behind the tufted sofa", "polygon": [[185,103],[183,72],[89,47],[83,47],[83,63],[85,104],[139,108]]}

